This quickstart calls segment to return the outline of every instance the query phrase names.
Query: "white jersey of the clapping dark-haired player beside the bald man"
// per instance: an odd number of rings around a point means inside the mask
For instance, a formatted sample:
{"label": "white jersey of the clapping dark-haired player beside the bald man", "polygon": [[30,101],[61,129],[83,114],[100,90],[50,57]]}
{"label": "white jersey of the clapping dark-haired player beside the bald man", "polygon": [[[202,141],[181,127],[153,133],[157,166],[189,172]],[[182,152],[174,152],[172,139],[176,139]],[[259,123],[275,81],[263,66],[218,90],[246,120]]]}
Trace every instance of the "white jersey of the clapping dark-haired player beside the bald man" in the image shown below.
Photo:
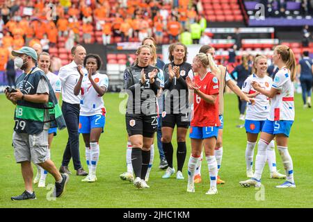
{"label": "white jersey of the clapping dark-haired player beside the bald man", "polygon": [[[99,87],[109,87],[109,78],[106,74],[94,74],[93,80]],[[95,88],[90,83],[88,75],[83,76],[81,83],[81,116],[93,116],[97,114],[104,114],[104,101],[102,96],[95,91]]]}

